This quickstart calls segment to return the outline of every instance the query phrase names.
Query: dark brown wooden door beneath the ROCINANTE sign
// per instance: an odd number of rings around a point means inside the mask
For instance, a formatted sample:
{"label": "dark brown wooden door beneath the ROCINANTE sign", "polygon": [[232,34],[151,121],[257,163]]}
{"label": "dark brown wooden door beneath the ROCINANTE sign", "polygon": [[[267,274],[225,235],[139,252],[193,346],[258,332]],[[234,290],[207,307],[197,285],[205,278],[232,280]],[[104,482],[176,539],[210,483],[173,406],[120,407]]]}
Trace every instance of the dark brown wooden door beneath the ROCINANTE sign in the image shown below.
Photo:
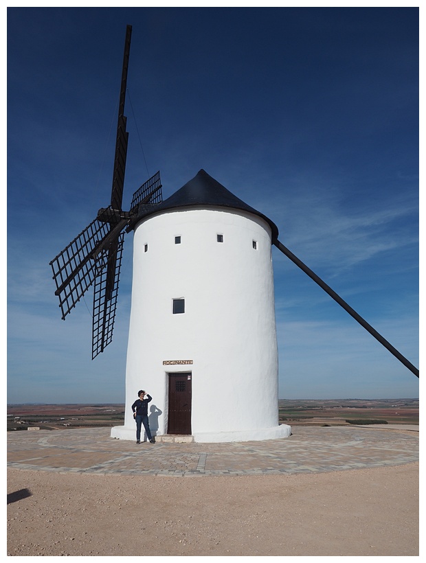
{"label": "dark brown wooden door beneath the ROCINANTE sign", "polygon": [[168,374],[168,434],[191,433],[192,374]]}

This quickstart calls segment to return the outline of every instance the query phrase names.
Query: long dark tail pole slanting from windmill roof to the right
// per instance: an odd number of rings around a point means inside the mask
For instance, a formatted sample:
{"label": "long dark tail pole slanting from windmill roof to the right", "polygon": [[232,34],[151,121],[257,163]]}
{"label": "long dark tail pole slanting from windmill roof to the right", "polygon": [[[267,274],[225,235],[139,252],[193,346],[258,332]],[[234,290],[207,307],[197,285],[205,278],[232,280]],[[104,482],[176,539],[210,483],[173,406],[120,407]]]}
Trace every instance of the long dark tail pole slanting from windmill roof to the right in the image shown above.
{"label": "long dark tail pole slanting from windmill roof to the right", "polygon": [[328,286],[325,283],[325,281],[322,281],[320,277],[318,277],[310,268],[308,268],[306,264],[304,264],[301,260],[299,260],[297,256],[295,256],[291,251],[289,251],[289,249],[287,249],[287,247],[284,246],[284,244],[282,244],[278,239],[273,241],[273,244],[275,244],[275,246],[282,253],[284,253],[287,257],[289,257],[290,260],[294,262],[294,264],[296,264],[296,266],[299,266],[299,268],[301,268],[304,271],[304,273],[309,275],[309,277],[313,279],[313,281],[315,281],[315,283],[318,284],[322,289],[324,289],[324,291],[328,293],[330,297],[332,297],[335,301],[337,301],[337,303],[339,303],[339,305],[343,307],[344,310],[346,310],[346,312],[348,312],[350,316],[355,319],[355,321],[358,321],[359,324],[363,326],[363,328],[365,328],[368,332],[370,332],[370,334],[374,336],[374,338],[376,338],[377,341],[379,341],[385,348],[387,348],[389,352],[395,356],[395,358],[398,358],[399,361],[403,363],[403,365],[405,365],[405,367],[410,369],[410,371],[412,371],[412,373],[416,377],[419,376],[418,369],[414,365],[412,365],[412,363],[409,360],[407,360],[407,358],[405,358],[400,352],[398,352],[398,350],[394,348],[392,344],[390,344],[385,338],[383,338],[383,336],[381,336],[381,334],[379,334],[377,330],[374,330],[374,328],[372,328],[372,326],[368,324],[367,321],[365,321],[355,310],[353,310],[352,307],[350,307],[348,303],[344,301],[344,299],[341,299],[341,297],[339,297],[339,295],[337,295],[337,293],[333,291],[330,288],[330,286]]}

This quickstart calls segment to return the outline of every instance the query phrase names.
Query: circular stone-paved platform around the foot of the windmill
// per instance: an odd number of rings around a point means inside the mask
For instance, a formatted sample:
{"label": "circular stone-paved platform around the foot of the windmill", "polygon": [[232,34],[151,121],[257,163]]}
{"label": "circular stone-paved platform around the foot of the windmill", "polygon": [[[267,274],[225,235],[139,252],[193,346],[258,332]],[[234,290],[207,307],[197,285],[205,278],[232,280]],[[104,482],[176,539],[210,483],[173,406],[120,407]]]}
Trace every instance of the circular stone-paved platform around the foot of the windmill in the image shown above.
{"label": "circular stone-paved platform around the foot of the windmill", "polygon": [[8,466],[158,476],[318,473],[418,461],[418,432],[293,426],[289,438],[227,444],[135,444],[109,428],[8,432]]}

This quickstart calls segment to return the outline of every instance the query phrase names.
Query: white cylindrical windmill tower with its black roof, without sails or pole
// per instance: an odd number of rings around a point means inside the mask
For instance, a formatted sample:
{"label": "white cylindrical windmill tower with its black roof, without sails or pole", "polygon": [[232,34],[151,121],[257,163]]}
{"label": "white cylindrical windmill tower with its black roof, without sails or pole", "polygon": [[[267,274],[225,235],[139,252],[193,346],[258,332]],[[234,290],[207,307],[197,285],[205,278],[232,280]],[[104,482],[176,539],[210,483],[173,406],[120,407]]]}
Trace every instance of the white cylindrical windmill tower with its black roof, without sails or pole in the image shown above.
{"label": "white cylindrical windmill tower with its black roof, without sails or pole", "polygon": [[[145,389],[153,435],[221,442],[289,436],[278,424],[275,225],[203,170],[135,227],[124,426]],[[278,231],[277,231],[278,232]]]}

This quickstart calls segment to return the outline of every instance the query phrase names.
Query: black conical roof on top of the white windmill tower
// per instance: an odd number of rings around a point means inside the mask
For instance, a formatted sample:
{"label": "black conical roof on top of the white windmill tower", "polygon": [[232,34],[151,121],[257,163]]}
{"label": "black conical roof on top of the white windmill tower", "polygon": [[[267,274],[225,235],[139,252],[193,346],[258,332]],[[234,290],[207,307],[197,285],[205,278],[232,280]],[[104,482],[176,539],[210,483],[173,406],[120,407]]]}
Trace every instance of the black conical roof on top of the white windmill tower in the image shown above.
{"label": "black conical roof on top of the white windmill tower", "polygon": [[[278,237],[278,228],[265,215],[250,207],[243,200],[240,200],[232,192],[229,192],[225,186],[218,183],[212,176],[205,170],[200,170],[197,176],[178,189],[177,192],[172,194],[169,198],[162,203],[155,205],[149,212],[144,209],[143,216],[150,214],[157,214],[167,209],[176,209],[177,207],[192,207],[192,206],[214,206],[214,207],[230,207],[232,209],[240,209],[247,211],[253,215],[257,215],[264,219],[272,230],[272,238]],[[148,211],[148,213],[146,213]],[[139,216],[139,218],[142,218]]]}

